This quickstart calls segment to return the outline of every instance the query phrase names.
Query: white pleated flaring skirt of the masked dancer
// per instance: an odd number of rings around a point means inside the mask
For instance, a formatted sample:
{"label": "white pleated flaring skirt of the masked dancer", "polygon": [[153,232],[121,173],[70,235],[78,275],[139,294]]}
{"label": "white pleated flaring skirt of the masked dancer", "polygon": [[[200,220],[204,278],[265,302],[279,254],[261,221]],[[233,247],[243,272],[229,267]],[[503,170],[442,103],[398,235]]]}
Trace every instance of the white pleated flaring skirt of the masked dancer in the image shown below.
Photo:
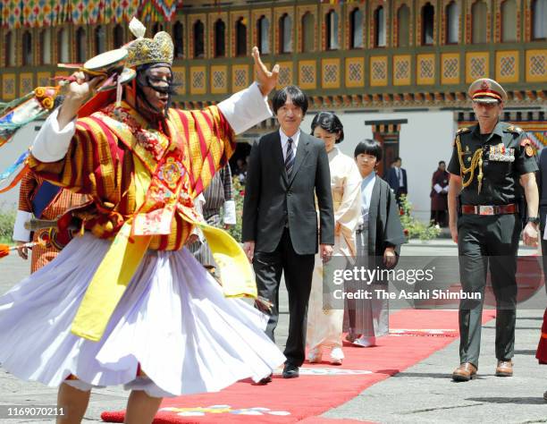
{"label": "white pleated flaring skirt of the masked dancer", "polygon": [[188,250],[148,250],[99,342],[72,335],[72,319],[110,242],[85,234],[0,297],[0,363],[16,377],[59,386],[136,381],[162,395],[216,392],[268,376],[285,360],[262,314],[226,299]]}

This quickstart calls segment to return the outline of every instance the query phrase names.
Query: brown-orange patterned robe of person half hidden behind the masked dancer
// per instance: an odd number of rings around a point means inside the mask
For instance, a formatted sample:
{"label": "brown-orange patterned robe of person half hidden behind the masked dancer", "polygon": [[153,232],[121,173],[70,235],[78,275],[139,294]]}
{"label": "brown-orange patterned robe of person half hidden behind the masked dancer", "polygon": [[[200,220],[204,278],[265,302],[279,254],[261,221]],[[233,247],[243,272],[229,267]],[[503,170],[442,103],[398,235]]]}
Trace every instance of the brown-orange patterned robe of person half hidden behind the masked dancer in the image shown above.
{"label": "brown-orange patterned robe of person half hidden behind the masked dancer", "polygon": [[[45,220],[55,220],[62,216],[68,209],[76,208],[85,203],[88,197],[85,194],[73,193],[63,190],[46,182],[33,172],[23,176],[19,189],[19,207],[13,228],[13,240],[17,242],[38,242],[50,238],[50,229],[41,229],[29,232],[24,225],[32,217]],[[30,259],[30,272],[36,272],[44,267],[59,254],[64,247],[64,241],[70,241],[68,233],[54,235],[54,240],[46,242],[46,245],[37,244],[32,247]],[[61,240],[63,242],[61,242]]]}

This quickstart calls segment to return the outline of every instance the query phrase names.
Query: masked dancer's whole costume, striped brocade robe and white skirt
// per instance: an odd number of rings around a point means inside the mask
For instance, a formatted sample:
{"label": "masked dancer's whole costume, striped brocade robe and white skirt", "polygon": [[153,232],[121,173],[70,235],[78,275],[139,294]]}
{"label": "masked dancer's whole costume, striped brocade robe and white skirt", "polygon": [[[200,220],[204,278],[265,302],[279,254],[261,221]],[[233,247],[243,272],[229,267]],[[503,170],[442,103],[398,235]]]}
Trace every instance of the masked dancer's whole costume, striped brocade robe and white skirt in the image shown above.
{"label": "masked dancer's whole costume, striped brocade robe and white skirt", "polygon": [[[124,384],[164,397],[259,381],[281,365],[261,314],[224,298],[182,248],[193,199],[230,157],[235,133],[270,114],[256,84],[202,111],[170,109],[159,128],[125,103],[63,129],[51,114],[29,165],[92,201],[67,219],[83,235],[0,297],[3,368],[47,386]],[[126,266],[127,284],[110,284]]]}

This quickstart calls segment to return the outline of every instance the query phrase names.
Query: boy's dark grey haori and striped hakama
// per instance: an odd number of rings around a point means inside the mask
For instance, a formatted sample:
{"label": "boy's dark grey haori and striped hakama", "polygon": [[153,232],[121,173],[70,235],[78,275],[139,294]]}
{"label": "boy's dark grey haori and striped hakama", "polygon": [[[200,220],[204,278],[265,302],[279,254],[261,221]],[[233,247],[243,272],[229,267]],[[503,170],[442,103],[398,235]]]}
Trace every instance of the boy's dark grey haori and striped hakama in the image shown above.
{"label": "boy's dark grey haori and striped hakama", "polygon": [[[367,219],[359,225],[357,232],[357,267],[383,266],[383,252],[387,247],[393,247],[397,256],[400,245],[406,242],[400,225],[399,208],[389,184],[379,176],[375,176]],[[363,281],[348,284],[348,291],[364,290],[371,292],[376,289],[387,289],[383,282],[373,282],[367,285]],[[389,310],[386,300],[371,296],[372,299],[356,300],[347,304],[344,316],[344,331],[349,331],[349,308],[355,310],[355,325],[352,327],[357,335],[366,337],[387,335],[389,332]]]}

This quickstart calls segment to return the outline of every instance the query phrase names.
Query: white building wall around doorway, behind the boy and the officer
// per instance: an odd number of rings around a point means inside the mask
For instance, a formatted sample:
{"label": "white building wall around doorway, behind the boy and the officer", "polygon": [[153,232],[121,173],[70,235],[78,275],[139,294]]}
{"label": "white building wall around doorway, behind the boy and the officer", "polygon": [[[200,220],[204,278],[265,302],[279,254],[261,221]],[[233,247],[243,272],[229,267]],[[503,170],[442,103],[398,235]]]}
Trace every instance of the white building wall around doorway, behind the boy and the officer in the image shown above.
{"label": "white building wall around doorway, behind the boy and the officer", "polygon": [[[345,134],[339,148],[351,157],[359,141],[372,139],[372,126],[365,125],[365,121],[408,120],[408,123],[400,125],[399,156],[402,167],[407,170],[408,199],[412,202],[414,215],[429,221],[431,178],[440,160],[447,165],[450,161],[452,141],[458,129],[454,114],[450,111],[337,114]],[[307,114],[302,123],[303,131],[310,131],[313,117],[313,113]]]}

